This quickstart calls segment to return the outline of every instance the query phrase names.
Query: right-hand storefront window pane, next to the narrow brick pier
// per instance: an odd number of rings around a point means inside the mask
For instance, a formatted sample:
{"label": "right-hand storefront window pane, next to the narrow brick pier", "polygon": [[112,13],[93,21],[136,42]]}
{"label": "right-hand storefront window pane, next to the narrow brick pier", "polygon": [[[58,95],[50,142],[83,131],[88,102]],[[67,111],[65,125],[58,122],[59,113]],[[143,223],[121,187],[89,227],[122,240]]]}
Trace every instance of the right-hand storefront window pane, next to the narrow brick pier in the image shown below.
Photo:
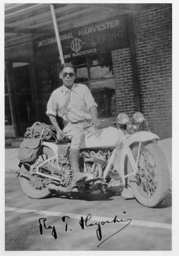
{"label": "right-hand storefront window pane, next to the narrow brick pier", "polygon": [[116,93],[111,52],[89,57],[91,91],[99,117],[116,116]]}

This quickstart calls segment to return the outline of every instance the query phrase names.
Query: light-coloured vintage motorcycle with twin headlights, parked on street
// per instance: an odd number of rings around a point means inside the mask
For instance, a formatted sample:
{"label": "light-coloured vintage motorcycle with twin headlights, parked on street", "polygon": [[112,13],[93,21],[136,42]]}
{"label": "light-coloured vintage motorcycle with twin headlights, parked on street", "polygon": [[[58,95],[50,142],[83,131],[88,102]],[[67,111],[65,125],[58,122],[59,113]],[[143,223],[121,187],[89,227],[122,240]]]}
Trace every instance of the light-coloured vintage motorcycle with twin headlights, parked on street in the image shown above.
{"label": "light-coloured vintage motorcycle with twin headlights, parked on street", "polygon": [[[141,131],[142,125],[148,131]],[[105,193],[112,182],[120,184],[120,195],[148,207],[164,203],[169,189],[169,170],[166,157],[157,145],[159,137],[150,132],[148,121],[136,112],[132,118],[120,113],[117,119],[101,120],[95,130],[85,127],[85,138],[80,148],[80,171],[87,176],[76,182],[79,193]],[[56,190],[68,193],[72,184],[69,157],[70,141],[60,143],[43,140],[33,164],[20,162],[20,184],[32,198],[45,198]]]}

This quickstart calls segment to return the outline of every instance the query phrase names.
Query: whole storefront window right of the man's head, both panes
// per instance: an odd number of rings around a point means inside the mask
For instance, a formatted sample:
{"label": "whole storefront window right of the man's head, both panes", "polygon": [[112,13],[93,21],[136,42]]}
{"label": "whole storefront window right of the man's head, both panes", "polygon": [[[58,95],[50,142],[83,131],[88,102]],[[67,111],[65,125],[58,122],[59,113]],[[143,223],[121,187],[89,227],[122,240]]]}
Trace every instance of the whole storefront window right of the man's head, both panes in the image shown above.
{"label": "whole storefront window right of the man's head, both panes", "polygon": [[116,93],[111,52],[85,55],[74,58],[72,61],[77,66],[75,82],[84,83],[90,88],[97,103],[98,116],[116,116]]}

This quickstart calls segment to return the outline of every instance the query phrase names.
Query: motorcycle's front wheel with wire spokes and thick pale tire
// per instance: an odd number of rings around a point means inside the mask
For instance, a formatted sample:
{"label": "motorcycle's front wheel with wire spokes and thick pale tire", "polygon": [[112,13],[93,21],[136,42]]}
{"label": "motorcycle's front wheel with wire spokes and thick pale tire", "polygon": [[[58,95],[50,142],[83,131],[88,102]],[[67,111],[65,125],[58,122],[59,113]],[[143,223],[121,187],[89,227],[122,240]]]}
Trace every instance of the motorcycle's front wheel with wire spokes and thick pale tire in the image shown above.
{"label": "motorcycle's front wheel with wire spokes and thick pale tire", "polygon": [[[138,147],[132,149],[136,161]],[[166,157],[156,143],[149,143],[141,147],[138,171],[128,177],[128,184],[132,187],[135,198],[147,207],[157,207],[165,202],[169,190],[169,170]],[[133,169],[128,159],[128,173]]]}

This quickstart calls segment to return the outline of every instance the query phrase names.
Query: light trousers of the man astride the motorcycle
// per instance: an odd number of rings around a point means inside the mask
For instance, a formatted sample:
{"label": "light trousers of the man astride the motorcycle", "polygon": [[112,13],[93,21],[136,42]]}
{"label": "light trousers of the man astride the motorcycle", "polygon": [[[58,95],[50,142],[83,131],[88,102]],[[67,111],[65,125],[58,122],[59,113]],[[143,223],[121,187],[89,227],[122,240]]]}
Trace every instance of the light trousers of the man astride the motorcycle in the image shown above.
{"label": "light trousers of the man astride the motorcycle", "polygon": [[64,127],[63,133],[65,133],[66,136],[71,140],[71,149],[80,149],[80,145],[85,137],[84,127],[86,124],[86,122],[79,124],[68,123]]}

